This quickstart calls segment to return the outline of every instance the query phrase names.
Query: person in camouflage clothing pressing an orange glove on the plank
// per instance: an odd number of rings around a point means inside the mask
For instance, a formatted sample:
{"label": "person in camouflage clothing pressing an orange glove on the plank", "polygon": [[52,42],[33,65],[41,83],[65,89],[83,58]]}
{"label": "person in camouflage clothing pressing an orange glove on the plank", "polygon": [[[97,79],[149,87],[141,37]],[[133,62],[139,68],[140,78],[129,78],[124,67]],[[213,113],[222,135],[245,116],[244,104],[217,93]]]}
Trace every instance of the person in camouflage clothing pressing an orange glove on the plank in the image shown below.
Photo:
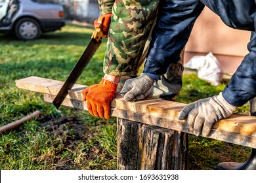
{"label": "person in camouflage clothing pressing an orange glove on the plank", "polygon": [[[148,48],[147,41],[157,16],[159,1],[98,0],[98,3],[101,16],[107,19],[111,15],[103,63],[104,80],[108,82],[104,83],[117,84],[121,76],[137,76],[138,68],[142,63],[142,55],[145,55],[143,52],[146,52]],[[164,75],[154,77],[154,80],[148,77],[153,83],[151,92],[144,93],[145,95],[138,99],[148,97],[152,95],[152,92],[165,99],[171,99],[179,94],[182,86],[183,59],[179,60],[178,64],[170,62],[170,69],[167,69]],[[102,88],[100,84],[96,88],[95,86],[89,87],[83,91],[83,99],[87,100],[89,112],[93,116],[109,118],[110,101],[116,94],[114,91],[116,86],[112,84],[110,88],[107,86]],[[98,92],[98,90],[104,92]],[[109,90],[112,92],[108,92]],[[109,93],[112,93],[111,97],[108,96]]]}

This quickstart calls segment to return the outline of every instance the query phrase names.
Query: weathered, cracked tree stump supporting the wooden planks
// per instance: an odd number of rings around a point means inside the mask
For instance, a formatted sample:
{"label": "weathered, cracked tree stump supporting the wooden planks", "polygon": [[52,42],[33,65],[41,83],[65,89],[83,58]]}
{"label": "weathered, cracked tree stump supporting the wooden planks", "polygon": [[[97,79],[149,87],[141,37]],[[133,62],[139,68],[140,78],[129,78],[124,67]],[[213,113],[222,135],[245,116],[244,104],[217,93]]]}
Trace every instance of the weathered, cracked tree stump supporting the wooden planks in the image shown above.
{"label": "weathered, cracked tree stump supporting the wooden planks", "polygon": [[187,169],[187,137],[187,133],[117,118],[117,169]]}

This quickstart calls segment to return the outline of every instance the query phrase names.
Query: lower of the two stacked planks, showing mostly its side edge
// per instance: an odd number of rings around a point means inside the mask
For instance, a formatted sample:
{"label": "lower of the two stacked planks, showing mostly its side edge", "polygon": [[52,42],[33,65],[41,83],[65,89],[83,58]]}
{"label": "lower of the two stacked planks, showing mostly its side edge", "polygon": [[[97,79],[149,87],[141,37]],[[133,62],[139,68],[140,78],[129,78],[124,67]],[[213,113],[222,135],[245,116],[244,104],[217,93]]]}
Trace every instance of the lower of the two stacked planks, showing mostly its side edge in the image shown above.
{"label": "lower of the two stacked planks, showing mostly its side edge", "polygon": [[[44,99],[46,102],[53,102],[55,95],[45,94]],[[65,99],[62,105],[67,107],[74,107],[81,110],[87,110],[85,101],[78,101],[75,99]],[[142,124],[155,125],[158,127],[173,129],[176,131],[182,131],[184,133],[194,134],[190,131],[186,124],[181,121],[170,120],[166,118],[159,118],[156,116],[151,116],[149,114],[142,114],[138,112],[132,112],[129,110],[122,110],[118,108],[112,108],[112,116],[117,118],[123,118],[126,120],[131,120],[134,122],[140,122]],[[238,115],[239,116],[239,115]],[[241,116],[239,116],[241,118]],[[247,117],[247,116],[244,116]],[[216,139],[219,141],[230,142],[233,144],[238,144],[242,146],[247,146],[251,148],[256,148],[256,137],[252,135],[244,135],[241,133],[236,133],[232,131],[224,131],[222,129],[216,128],[217,125],[213,126],[209,138]]]}

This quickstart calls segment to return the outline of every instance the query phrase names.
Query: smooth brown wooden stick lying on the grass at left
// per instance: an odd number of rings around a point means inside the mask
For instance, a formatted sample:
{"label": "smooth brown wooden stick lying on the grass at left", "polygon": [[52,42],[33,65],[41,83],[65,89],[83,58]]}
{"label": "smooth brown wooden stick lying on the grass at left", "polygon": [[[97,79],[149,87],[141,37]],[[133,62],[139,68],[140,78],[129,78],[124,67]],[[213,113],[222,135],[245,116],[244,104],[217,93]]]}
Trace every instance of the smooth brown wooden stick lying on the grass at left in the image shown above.
{"label": "smooth brown wooden stick lying on the grass at left", "polygon": [[21,118],[20,120],[17,120],[15,122],[12,122],[11,124],[7,124],[7,125],[0,127],[0,133],[14,129],[15,127],[22,125],[24,122],[31,120],[32,118],[35,118],[36,116],[39,116],[40,114],[41,114],[41,112],[39,110],[35,110],[35,112],[33,112],[32,114],[30,114],[24,118]]}

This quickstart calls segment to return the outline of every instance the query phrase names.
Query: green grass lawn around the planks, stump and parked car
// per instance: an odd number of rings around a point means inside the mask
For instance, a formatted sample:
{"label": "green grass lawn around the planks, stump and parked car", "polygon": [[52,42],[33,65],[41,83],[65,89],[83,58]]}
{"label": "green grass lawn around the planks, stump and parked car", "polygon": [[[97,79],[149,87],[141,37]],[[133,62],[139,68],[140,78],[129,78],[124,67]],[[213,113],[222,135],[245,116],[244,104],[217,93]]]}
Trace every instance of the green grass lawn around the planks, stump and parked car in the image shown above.
{"label": "green grass lawn around the planks, stump and parked car", "polygon": [[[39,76],[66,80],[93,29],[66,25],[62,31],[44,34],[37,41],[21,42],[0,35],[0,126],[40,110],[42,115],[0,136],[0,169],[116,169],[116,118],[95,118],[87,111],[43,101],[43,95],[15,87],[15,80]],[[91,85],[103,76],[106,40],[77,83]],[[216,95],[214,87],[186,75],[177,101],[190,103]],[[248,114],[248,105],[237,110]],[[250,148],[203,137],[189,136],[189,169],[215,169],[223,161],[244,162]]]}

